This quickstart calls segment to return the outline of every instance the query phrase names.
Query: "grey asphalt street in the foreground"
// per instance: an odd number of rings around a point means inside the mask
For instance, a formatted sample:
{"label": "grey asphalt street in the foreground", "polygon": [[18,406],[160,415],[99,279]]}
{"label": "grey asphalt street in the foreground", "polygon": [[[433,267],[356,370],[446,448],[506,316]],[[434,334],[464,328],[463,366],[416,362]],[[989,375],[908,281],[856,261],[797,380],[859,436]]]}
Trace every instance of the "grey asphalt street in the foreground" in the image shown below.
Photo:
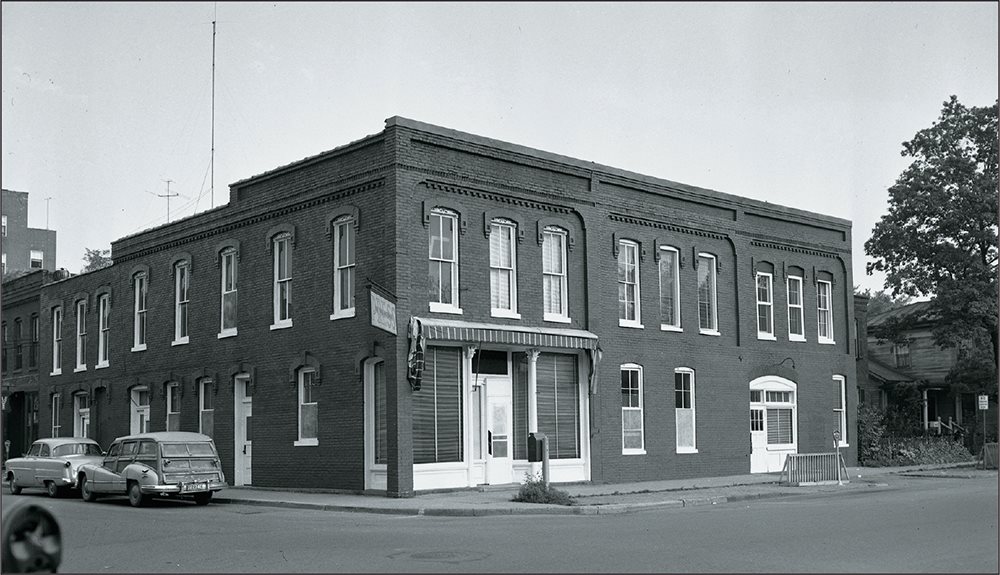
{"label": "grey asphalt street in the foreground", "polygon": [[[36,494],[38,493],[38,494]],[[622,515],[425,517],[30,498],[61,572],[997,572],[997,478]]]}

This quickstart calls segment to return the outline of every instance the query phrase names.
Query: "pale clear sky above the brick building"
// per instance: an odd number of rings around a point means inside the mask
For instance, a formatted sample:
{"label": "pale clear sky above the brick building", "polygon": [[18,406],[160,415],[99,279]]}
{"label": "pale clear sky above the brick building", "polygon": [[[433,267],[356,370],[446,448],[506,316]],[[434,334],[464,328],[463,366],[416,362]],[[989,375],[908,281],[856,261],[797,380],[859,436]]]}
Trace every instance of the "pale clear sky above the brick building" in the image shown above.
{"label": "pale clear sky above the brick building", "polygon": [[399,115],[851,220],[876,291],[864,242],[902,143],[952,94],[997,100],[997,22],[995,2],[3,2],[2,185],[75,273]]}

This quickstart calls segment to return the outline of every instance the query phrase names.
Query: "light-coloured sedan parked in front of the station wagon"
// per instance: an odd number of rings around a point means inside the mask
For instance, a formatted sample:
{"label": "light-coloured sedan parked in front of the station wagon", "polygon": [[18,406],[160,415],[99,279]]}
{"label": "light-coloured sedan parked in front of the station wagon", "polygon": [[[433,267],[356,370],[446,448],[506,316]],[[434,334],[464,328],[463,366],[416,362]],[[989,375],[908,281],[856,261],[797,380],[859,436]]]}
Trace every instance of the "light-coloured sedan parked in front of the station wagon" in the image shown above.
{"label": "light-coloured sedan parked in front of the station wagon", "polygon": [[24,488],[44,487],[49,497],[75,488],[77,470],[87,463],[100,463],[101,446],[87,437],[50,437],[31,444],[23,457],[7,460],[4,481],[17,495]]}

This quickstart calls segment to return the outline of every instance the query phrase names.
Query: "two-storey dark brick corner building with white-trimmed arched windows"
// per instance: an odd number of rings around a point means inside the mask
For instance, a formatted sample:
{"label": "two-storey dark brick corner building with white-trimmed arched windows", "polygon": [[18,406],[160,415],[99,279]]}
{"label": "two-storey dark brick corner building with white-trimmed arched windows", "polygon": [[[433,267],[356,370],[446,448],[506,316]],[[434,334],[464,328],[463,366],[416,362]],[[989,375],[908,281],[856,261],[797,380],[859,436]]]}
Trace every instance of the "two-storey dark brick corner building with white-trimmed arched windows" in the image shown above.
{"label": "two-storey dark brick corner building with white-trimmed arched windows", "polygon": [[394,117],[112,259],[41,290],[42,435],[389,496],[520,481],[529,432],[554,481],[854,459],[846,220]]}

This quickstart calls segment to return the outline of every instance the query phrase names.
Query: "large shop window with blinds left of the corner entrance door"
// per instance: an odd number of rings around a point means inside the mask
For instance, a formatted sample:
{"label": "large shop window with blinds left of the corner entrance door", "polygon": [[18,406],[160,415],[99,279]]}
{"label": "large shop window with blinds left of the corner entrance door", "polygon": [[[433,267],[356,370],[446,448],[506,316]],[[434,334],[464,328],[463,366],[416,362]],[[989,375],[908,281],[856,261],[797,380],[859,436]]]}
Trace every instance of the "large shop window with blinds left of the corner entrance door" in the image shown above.
{"label": "large shop window with blinds left of the corner entrance door", "polygon": [[428,347],[413,393],[413,463],[462,461],[462,352]]}

